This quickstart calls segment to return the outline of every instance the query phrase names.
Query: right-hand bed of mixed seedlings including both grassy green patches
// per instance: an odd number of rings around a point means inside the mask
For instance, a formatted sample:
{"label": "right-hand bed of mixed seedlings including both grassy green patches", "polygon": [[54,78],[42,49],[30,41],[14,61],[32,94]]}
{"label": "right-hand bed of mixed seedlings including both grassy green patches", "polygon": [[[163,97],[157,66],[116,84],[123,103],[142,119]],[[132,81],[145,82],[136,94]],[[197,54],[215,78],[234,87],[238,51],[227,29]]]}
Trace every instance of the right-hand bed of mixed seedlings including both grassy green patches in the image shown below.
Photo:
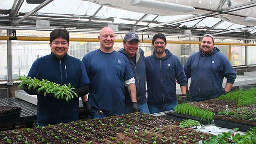
{"label": "right-hand bed of mixed seedlings including both grassy green patches", "polygon": [[[211,111],[211,112],[209,112]],[[256,126],[256,89],[235,90],[216,99],[179,104],[176,113]]]}

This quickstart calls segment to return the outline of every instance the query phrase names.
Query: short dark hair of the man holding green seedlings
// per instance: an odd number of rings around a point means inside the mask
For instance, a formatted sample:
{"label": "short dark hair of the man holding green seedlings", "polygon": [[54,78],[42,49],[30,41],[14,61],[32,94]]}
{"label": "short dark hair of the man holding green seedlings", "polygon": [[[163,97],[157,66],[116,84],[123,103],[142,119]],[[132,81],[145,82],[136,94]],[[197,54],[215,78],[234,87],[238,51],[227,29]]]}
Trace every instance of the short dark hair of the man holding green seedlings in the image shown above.
{"label": "short dark hair of the man holding green seedlings", "polygon": [[58,37],[62,37],[69,42],[69,34],[66,29],[54,29],[50,33],[50,43]]}

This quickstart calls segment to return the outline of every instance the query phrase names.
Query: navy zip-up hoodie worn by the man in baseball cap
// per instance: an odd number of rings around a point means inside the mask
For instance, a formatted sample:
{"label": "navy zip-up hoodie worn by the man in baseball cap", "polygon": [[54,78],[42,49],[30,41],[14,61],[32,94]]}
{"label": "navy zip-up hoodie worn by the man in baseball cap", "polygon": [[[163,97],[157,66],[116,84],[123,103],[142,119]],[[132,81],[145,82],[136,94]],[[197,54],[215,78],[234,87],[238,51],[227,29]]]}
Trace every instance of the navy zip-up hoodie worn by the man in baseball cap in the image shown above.
{"label": "navy zip-up hoodie worn by the man in baseball cap", "polygon": [[[136,52],[136,64],[132,61],[132,59],[124,52],[124,48],[121,48],[118,52],[124,54],[131,65],[132,72],[134,74],[136,91],[137,91],[137,102],[138,104],[143,104],[147,102],[146,98],[146,68],[145,68],[145,56],[144,51],[139,48]],[[125,105],[131,106],[132,101],[130,94],[125,87]]]}

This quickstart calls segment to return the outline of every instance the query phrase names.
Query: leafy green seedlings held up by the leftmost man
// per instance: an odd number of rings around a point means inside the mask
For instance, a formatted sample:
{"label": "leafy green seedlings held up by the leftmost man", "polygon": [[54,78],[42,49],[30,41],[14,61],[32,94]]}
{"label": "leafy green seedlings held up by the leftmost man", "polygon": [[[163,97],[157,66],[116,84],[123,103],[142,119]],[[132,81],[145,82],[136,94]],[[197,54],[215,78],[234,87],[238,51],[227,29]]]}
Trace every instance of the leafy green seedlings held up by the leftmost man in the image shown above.
{"label": "leafy green seedlings held up by the leftmost man", "polygon": [[36,87],[39,87],[37,92],[40,93],[40,91],[45,91],[44,96],[52,93],[54,94],[54,98],[61,98],[66,101],[69,101],[74,97],[78,97],[78,95],[73,91],[74,87],[71,87],[70,83],[68,86],[66,84],[61,86],[60,84],[50,82],[47,79],[39,80],[26,76],[18,76],[18,79],[21,81],[19,88],[23,87],[23,85],[28,85],[29,90],[31,90],[31,88],[35,89]]}

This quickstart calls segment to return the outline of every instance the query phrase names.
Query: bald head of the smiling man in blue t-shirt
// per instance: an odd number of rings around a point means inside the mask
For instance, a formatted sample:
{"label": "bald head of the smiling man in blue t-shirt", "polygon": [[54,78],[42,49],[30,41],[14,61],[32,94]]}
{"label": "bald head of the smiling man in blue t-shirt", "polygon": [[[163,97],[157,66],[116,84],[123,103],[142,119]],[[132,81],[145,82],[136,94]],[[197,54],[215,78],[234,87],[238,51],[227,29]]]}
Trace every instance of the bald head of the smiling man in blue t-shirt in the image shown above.
{"label": "bald head of the smiling man in blue t-shirt", "polygon": [[104,27],[100,30],[100,35],[98,37],[100,42],[100,50],[103,52],[112,52],[113,45],[115,42],[114,30],[110,27]]}

